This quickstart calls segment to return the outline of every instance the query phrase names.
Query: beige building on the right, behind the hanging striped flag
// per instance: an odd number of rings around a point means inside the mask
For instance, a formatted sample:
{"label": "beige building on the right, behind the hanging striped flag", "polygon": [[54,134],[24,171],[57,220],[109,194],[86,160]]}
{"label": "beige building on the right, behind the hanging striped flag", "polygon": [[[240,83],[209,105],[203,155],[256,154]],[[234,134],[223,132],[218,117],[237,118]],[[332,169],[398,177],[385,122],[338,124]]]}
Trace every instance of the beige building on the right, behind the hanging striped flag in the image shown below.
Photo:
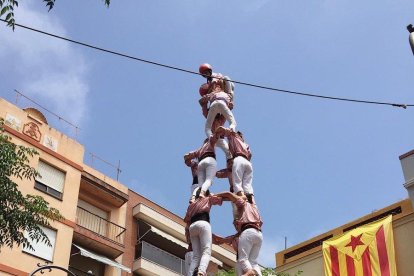
{"label": "beige building on the right, behind the hanging striped flag", "polygon": [[[322,276],[324,260],[322,243],[332,237],[347,233],[359,226],[368,224],[386,216],[392,215],[394,233],[395,261],[398,275],[413,275],[414,273],[414,151],[400,156],[405,183],[409,198],[384,207],[371,214],[351,221],[338,228],[302,242],[298,245],[277,252],[276,271],[295,275]],[[341,274],[342,275],[342,274]],[[374,275],[374,274],[373,274]],[[377,274],[375,274],[377,275]]]}

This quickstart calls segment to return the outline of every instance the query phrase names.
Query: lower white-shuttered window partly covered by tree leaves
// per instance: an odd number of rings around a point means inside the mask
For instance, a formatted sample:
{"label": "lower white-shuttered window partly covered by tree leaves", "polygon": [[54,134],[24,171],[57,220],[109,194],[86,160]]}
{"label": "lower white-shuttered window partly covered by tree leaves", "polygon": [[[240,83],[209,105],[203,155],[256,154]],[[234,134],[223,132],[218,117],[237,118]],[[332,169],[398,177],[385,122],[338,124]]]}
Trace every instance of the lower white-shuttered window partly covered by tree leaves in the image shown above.
{"label": "lower white-shuttered window partly covered by tree leaves", "polygon": [[52,246],[47,246],[47,244],[42,241],[39,241],[39,242],[32,241],[29,237],[29,233],[25,232],[24,236],[30,241],[30,244],[32,245],[34,250],[30,250],[29,248],[23,248],[23,252],[29,253],[31,255],[34,255],[44,260],[52,262],[53,252],[55,250],[57,232],[56,230],[46,228],[43,226],[40,226],[40,228],[42,228],[43,232],[47,235]]}

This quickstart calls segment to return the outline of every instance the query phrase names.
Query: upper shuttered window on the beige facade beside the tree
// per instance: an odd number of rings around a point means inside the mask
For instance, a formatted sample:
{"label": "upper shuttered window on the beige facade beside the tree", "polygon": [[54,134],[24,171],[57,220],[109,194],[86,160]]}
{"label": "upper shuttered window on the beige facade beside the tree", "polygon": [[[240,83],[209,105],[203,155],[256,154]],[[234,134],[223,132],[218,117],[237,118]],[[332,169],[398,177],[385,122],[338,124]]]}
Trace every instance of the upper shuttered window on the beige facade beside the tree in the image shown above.
{"label": "upper shuttered window on the beige facade beside the tree", "polygon": [[65,173],[41,160],[37,170],[40,176],[35,179],[35,188],[53,197],[62,199]]}

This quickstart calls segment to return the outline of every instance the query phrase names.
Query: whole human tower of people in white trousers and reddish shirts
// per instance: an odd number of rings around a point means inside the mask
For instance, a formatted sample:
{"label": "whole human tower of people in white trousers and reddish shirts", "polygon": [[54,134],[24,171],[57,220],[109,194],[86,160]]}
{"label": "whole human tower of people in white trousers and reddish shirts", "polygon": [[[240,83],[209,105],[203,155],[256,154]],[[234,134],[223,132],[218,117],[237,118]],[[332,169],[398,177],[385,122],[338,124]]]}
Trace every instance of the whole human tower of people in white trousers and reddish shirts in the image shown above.
{"label": "whole human tower of people in white trousers and reddish shirts", "polygon": [[[236,130],[233,98],[234,84],[230,78],[214,73],[210,64],[200,65],[206,83],[200,87],[202,113],[206,118],[207,138],[202,146],[184,155],[191,168],[193,182],[184,221],[189,248],[186,253],[186,275],[205,276],[211,258],[212,243],[228,243],[237,252],[237,275],[262,275],[257,257],[263,241],[263,224],[253,193],[252,154],[243,134]],[[225,127],[228,122],[228,127]],[[226,168],[217,171],[216,148],[226,156]],[[230,191],[210,193],[214,177],[228,178]],[[210,209],[230,201],[236,234],[222,238],[212,235]]]}

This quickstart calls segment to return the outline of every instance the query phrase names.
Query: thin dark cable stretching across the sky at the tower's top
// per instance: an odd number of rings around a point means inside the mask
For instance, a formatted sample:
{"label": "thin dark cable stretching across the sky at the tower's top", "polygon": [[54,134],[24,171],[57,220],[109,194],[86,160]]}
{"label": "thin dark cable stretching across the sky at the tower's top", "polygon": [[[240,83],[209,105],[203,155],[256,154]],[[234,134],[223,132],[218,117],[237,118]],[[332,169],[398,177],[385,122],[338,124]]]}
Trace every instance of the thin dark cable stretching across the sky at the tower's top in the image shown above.
{"label": "thin dark cable stretching across the sky at the tower's top", "polygon": [[[4,19],[0,19],[0,20],[3,21],[3,22],[7,22]],[[71,43],[75,43],[75,44],[78,44],[78,45],[82,45],[82,46],[85,46],[85,47],[88,47],[88,48],[91,48],[91,49],[95,49],[95,50],[98,50],[98,51],[102,51],[102,52],[106,52],[106,53],[109,53],[109,54],[121,56],[121,57],[124,57],[124,58],[132,59],[132,60],[136,60],[136,61],[140,61],[140,62],[144,62],[144,63],[148,63],[148,64],[152,64],[152,65],[156,65],[156,66],[160,66],[160,67],[164,67],[164,68],[168,68],[168,69],[172,69],[172,70],[177,70],[177,71],[181,71],[181,72],[185,72],[185,73],[189,73],[189,74],[193,74],[193,75],[203,76],[202,74],[199,74],[198,72],[194,72],[194,71],[191,71],[191,70],[182,69],[182,68],[171,66],[171,65],[166,65],[166,64],[159,63],[159,62],[154,62],[154,61],[151,61],[151,60],[146,60],[146,59],[142,59],[142,58],[122,54],[122,53],[115,52],[115,51],[112,51],[112,50],[107,50],[107,49],[100,48],[100,47],[97,47],[97,46],[94,46],[94,45],[90,45],[90,44],[87,44],[87,43],[83,43],[83,42],[76,41],[76,40],[73,40],[73,39],[69,39],[69,38],[66,38],[66,37],[58,36],[58,35],[55,35],[55,34],[52,34],[52,33],[41,31],[41,30],[38,30],[38,29],[35,29],[35,28],[24,26],[24,25],[21,25],[21,24],[16,23],[15,26],[21,27],[23,29],[31,30],[31,31],[34,31],[34,32],[38,32],[38,33],[41,33],[41,34],[44,34],[44,35],[47,35],[47,36],[51,36],[51,37],[54,37],[54,38],[58,38],[58,39],[61,39],[61,40],[65,40],[65,41],[68,41],[68,42],[71,42]],[[320,99],[326,99],[326,100],[346,101],[346,102],[364,103],[364,104],[388,105],[388,106],[394,106],[394,107],[402,107],[404,109],[406,109],[407,107],[414,106],[414,104],[400,104],[400,103],[391,103],[391,102],[379,102],[379,101],[357,100],[357,99],[349,99],[349,98],[324,96],[324,95],[318,95],[318,94],[311,94],[311,93],[304,93],[304,92],[298,92],[298,91],[292,91],[292,90],[273,88],[273,87],[269,87],[269,86],[263,86],[263,85],[258,85],[258,84],[242,82],[242,81],[236,81],[236,80],[232,80],[232,82],[237,83],[237,84],[241,84],[241,85],[245,85],[245,86],[265,89],[265,90],[271,90],[271,91],[276,91],[276,92],[281,92],[281,93],[288,93],[288,94],[293,94],[293,95],[298,95],[298,96],[320,98]]]}

